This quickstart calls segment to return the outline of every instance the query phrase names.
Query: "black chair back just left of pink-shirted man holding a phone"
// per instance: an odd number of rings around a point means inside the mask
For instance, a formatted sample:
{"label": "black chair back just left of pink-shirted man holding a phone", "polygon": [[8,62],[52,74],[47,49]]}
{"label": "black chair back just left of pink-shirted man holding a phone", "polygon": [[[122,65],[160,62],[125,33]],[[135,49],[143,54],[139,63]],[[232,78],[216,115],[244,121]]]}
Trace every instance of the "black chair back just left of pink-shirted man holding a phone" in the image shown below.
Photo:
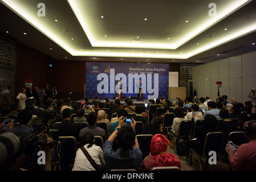
{"label": "black chair back just left of pink-shirted man holding a phone", "polygon": [[224,143],[224,133],[222,132],[210,132],[205,137],[204,150],[202,156],[208,156],[210,151],[215,151],[216,154],[222,154],[222,148]]}

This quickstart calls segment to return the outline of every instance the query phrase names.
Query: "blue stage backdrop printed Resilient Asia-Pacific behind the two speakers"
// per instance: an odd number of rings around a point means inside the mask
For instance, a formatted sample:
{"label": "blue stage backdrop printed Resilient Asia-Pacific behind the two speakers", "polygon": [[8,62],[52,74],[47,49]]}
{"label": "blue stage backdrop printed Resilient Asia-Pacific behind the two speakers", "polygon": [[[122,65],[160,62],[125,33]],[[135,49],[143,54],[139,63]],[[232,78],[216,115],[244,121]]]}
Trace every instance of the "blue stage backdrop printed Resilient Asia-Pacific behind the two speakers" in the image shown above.
{"label": "blue stage backdrop printed Resilient Asia-Pacific behind the two speakers", "polygon": [[169,65],[139,63],[86,63],[86,96],[116,97],[120,78],[123,97],[137,97],[139,80],[146,99],[168,98]]}

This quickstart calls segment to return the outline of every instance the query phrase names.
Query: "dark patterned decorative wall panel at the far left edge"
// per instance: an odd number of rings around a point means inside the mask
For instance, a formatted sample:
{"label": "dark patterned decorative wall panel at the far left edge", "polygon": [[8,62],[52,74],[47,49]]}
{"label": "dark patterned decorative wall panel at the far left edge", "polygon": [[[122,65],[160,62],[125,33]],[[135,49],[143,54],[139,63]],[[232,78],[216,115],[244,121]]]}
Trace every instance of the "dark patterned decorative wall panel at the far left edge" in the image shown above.
{"label": "dark patterned decorative wall panel at the far left edge", "polygon": [[[9,85],[15,86],[15,59],[15,41],[0,34],[0,92]],[[11,98],[14,100],[14,92]]]}

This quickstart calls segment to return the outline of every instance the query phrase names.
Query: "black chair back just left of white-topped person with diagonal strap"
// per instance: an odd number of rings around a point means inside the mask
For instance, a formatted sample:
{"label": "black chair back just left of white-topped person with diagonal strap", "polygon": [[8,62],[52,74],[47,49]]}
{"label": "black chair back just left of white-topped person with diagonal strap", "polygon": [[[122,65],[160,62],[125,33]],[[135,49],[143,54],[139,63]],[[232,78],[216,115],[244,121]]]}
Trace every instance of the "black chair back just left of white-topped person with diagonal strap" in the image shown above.
{"label": "black chair back just left of white-topped person with diagonal strap", "polygon": [[64,170],[71,171],[69,166],[75,163],[77,142],[75,137],[59,137],[58,141],[62,146],[62,158],[60,161],[63,162]]}

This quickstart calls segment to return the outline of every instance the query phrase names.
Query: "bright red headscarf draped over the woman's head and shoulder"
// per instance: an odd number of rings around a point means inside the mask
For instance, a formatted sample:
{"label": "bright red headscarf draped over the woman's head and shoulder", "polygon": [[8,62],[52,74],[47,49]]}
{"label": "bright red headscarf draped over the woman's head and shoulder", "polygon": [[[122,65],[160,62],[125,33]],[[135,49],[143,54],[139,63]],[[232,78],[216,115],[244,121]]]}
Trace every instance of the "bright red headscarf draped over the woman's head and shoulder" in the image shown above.
{"label": "bright red headscarf draped over the woman's head and shoulder", "polygon": [[156,134],[152,137],[151,140],[151,155],[155,157],[156,166],[177,166],[181,168],[180,160],[170,153],[166,153],[167,147],[170,145],[170,142],[164,135]]}

